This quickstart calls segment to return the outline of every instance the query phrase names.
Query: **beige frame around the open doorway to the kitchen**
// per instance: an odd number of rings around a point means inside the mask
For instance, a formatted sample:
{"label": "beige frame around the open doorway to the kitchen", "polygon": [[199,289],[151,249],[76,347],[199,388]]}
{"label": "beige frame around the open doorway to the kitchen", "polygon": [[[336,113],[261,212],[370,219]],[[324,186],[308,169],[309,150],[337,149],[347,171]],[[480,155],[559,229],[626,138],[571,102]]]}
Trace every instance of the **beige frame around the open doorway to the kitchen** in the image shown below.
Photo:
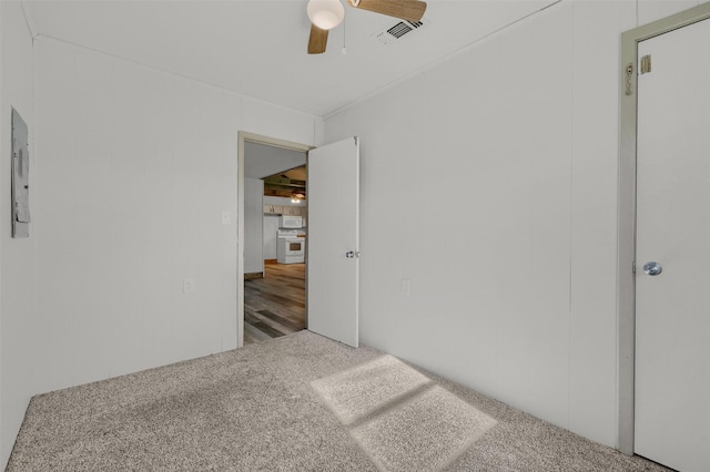
{"label": "beige frame around the open doorway to the kitchen", "polygon": [[[294,143],[291,141],[278,140],[275,137],[264,136],[261,134],[248,133],[245,131],[237,132],[237,177],[236,177],[236,347],[244,347],[244,143],[251,142],[256,144],[265,144],[273,147],[281,147],[290,151],[298,151],[306,153],[306,165],[308,163],[307,153],[314,146],[307,144]],[[306,238],[306,248],[307,248]],[[308,252],[306,249],[306,258]],[[306,260],[307,266],[307,260]],[[307,275],[306,275],[307,283]],[[308,317],[308,307],[306,299],[306,326]]]}

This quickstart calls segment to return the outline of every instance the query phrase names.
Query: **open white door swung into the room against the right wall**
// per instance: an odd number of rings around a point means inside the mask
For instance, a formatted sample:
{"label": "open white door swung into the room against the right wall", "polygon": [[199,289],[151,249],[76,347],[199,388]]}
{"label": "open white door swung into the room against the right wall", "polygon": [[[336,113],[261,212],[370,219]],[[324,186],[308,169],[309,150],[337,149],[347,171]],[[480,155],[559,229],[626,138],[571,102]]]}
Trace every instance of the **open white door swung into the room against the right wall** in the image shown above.
{"label": "open white door swung into the room against the right wall", "polygon": [[358,346],[359,143],[308,152],[308,330]]}

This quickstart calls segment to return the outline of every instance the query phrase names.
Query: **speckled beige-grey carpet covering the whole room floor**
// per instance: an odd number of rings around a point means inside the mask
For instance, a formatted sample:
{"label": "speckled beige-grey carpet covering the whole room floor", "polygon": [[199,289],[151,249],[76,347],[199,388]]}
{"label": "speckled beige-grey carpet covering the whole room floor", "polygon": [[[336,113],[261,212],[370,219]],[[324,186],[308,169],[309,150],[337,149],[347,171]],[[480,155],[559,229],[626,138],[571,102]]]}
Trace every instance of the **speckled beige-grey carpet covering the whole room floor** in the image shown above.
{"label": "speckled beige-grey carpet covering the whole room floor", "polygon": [[34,397],[8,471],[665,471],[308,331]]}

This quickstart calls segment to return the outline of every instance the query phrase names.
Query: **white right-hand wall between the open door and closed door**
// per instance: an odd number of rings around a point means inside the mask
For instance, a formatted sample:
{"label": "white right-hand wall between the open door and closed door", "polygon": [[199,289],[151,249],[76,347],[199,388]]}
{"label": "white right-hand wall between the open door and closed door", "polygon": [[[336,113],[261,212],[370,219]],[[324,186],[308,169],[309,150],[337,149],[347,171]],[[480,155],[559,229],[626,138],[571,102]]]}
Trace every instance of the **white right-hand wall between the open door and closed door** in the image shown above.
{"label": "white right-hand wall between the open door and closed door", "polygon": [[565,1],[326,120],[362,137],[362,342],[617,445],[619,33],[688,6]]}

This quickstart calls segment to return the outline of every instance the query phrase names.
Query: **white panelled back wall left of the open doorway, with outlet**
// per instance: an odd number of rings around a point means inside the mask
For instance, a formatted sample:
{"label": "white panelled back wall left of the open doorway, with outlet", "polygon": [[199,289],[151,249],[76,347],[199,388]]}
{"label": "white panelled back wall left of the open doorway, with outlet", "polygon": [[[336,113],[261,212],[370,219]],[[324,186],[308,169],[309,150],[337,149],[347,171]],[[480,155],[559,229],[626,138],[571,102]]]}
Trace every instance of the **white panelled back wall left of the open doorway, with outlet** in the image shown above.
{"label": "white panelled back wall left of the open doorway, with outlet", "polygon": [[58,42],[37,58],[36,391],[234,348],[239,100]]}

